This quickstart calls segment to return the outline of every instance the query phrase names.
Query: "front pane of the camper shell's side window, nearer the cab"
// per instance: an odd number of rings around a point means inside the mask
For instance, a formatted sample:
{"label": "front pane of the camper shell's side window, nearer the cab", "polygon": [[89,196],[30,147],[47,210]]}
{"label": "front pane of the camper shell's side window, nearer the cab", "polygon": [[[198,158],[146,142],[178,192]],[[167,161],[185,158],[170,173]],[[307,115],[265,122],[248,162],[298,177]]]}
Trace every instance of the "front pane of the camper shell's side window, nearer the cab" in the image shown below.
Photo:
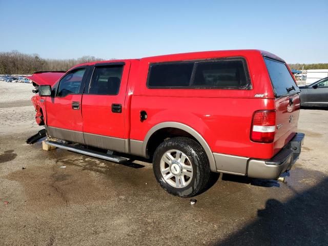
{"label": "front pane of the camper shell's side window, nearer the cab", "polygon": [[148,87],[186,87],[190,84],[194,63],[152,64]]}

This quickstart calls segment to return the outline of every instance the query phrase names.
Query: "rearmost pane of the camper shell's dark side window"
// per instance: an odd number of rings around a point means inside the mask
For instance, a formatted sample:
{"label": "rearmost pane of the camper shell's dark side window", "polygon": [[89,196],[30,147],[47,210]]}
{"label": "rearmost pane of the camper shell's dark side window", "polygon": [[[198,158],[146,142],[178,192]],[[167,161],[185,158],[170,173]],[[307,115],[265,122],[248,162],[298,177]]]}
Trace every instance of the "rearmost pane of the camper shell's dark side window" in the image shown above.
{"label": "rearmost pane of the camper shell's dark side window", "polygon": [[194,87],[245,87],[248,85],[242,60],[197,63]]}

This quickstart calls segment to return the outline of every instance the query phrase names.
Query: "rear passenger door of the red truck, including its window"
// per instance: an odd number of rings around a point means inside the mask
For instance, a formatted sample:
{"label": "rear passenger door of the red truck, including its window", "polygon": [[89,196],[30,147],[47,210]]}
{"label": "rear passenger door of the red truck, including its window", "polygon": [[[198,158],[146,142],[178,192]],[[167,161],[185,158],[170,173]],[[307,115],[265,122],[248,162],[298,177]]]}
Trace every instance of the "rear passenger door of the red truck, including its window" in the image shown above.
{"label": "rear passenger door of the red truck, including its window", "polygon": [[125,98],[130,62],[96,64],[82,98],[85,144],[125,152]]}

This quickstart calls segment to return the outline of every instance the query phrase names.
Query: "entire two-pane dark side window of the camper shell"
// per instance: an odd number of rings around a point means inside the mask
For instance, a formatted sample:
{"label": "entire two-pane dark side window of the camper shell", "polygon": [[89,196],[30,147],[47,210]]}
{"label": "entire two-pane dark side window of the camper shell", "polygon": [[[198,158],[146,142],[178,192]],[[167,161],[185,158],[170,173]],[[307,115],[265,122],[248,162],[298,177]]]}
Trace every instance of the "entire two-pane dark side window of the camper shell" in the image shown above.
{"label": "entire two-pane dark side window of the camper shell", "polygon": [[243,58],[151,64],[150,89],[250,89]]}

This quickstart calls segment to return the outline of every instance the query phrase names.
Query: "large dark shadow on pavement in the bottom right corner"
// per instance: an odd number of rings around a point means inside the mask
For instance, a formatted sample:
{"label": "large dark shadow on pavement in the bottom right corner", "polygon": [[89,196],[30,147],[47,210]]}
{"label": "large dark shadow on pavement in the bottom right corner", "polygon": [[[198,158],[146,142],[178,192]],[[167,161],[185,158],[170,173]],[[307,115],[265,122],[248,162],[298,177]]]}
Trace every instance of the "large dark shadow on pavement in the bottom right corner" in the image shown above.
{"label": "large dark shadow on pavement in the bottom right corner", "polygon": [[287,202],[268,199],[257,219],[214,245],[328,245],[328,178]]}

